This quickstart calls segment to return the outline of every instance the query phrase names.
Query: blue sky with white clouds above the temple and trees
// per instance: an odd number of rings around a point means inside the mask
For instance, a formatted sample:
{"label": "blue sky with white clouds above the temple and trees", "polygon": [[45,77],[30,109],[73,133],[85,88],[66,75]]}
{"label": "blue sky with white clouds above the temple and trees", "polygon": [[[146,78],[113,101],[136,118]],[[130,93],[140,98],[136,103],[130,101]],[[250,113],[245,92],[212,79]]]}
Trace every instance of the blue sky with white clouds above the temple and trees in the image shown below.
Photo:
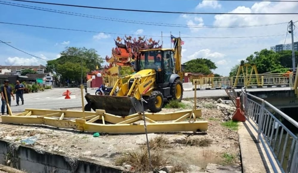
{"label": "blue sky with white clouds above the temple and trees", "polygon": [[[239,2],[216,0],[43,1],[61,4],[159,11],[298,13],[297,2]],[[298,15],[164,14],[64,7],[10,0],[1,0],[0,3],[17,3],[13,5],[23,4],[60,10],[60,12],[67,11],[89,15],[89,17],[80,15],[73,16],[63,14],[64,12],[53,13],[0,4],[0,22],[97,32],[57,30],[0,23],[0,40],[11,42],[9,43],[10,45],[43,59],[51,60],[58,58],[59,53],[64,50],[66,46],[94,48],[102,57],[106,55],[110,56],[111,48],[115,46],[113,39],[116,39],[117,36],[123,37],[124,34],[145,35],[148,36],[148,38],[152,36],[155,40],[163,40],[163,47],[167,48],[170,47],[170,32],[174,36],[179,36],[180,31],[182,40],[185,42],[182,47],[182,61],[186,62],[195,58],[211,59],[218,66],[218,69],[216,69],[214,73],[221,75],[228,75],[232,66],[238,64],[241,59],[245,59],[253,52],[265,48],[270,49],[270,46],[277,44],[283,44],[286,38],[288,22],[290,20],[298,20]],[[152,22],[158,24],[153,25]],[[277,23],[279,24],[264,26]],[[298,25],[298,22],[296,25]],[[232,27],[210,28],[208,26]],[[163,33],[163,38],[161,38],[161,33]],[[294,33],[294,40],[298,41],[297,29]],[[290,42],[291,36],[288,35],[286,43]],[[46,65],[45,60],[34,58],[3,43],[0,43],[0,60],[1,65]]]}

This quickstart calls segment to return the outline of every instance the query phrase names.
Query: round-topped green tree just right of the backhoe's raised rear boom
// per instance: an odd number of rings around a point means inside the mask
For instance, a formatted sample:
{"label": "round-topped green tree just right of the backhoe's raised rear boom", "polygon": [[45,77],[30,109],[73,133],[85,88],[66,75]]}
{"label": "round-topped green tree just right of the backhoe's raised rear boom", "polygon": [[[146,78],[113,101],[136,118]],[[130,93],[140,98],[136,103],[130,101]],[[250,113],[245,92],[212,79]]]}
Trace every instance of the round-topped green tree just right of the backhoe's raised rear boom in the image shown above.
{"label": "round-topped green tree just right of the backhoe's raised rear boom", "polygon": [[211,74],[217,67],[210,59],[197,58],[184,63],[185,72]]}

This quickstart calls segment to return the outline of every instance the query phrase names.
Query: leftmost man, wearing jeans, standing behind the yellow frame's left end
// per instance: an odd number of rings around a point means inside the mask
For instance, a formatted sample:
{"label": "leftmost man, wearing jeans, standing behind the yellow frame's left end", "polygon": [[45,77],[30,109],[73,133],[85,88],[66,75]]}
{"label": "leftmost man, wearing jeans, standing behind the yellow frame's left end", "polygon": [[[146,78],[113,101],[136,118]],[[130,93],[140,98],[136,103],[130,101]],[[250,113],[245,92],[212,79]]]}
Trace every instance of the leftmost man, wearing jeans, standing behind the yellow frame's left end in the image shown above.
{"label": "leftmost man, wearing jeans, standing behind the yellow frame's left end", "polygon": [[[4,87],[5,87],[5,90],[6,90],[7,97],[5,95]],[[10,96],[13,96],[13,90],[9,86],[9,80],[6,79],[6,80],[4,80],[4,85],[1,86],[1,100],[2,100],[1,113],[2,113],[2,115],[4,115],[6,100],[8,100],[8,104],[10,106],[10,103],[11,103],[11,97]],[[13,96],[13,100],[15,100],[14,96]],[[6,113],[9,114],[7,105],[6,105],[6,109],[7,109]]]}

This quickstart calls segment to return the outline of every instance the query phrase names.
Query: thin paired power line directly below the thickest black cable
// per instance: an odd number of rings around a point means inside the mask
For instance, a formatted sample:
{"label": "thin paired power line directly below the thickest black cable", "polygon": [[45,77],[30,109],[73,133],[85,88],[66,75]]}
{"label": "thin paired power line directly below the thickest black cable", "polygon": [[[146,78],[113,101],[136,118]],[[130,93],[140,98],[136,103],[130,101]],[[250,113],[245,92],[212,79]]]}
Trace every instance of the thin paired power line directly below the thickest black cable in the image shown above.
{"label": "thin paired power line directly below the thickest black cable", "polygon": [[[4,1],[0,1],[4,2]],[[5,4],[9,3],[9,4]],[[11,2],[5,2],[0,3],[4,5],[10,5],[15,7],[23,7],[23,8],[29,8],[34,10],[41,10],[41,11],[48,11],[53,13],[62,13],[72,16],[81,16],[81,17],[87,17],[87,18],[93,18],[93,19],[101,19],[101,20],[108,20],[108,21],[114,21],[114,22],[124,22],[124,23],[134,23],[134,24],[141,24],[141,25],[156,25],[156,26],[166,26],[166,27],[185,27],[185,28],[246,28],[246,27],[261,27],[261,26],[272,26],[272,25],[281,25],[288,22],[280,22],[280,23],[273,23],[273,24],[262,24],[262,25],[230,25],[230,26],[219,26],[219,25],[205,25],[205,26],[197,26],[197,25],[181,25],[181,24],[169,24],[169,23],[158,23],[158,22],[144,22],[144,21],[135,21],[135,20],[127,20],[127,19],[117,19],[117,18],[109,18],[109,17],[103,17],[103,16],[94,16],[89,14],[82,14],[82,13],[74,13],[74,12],[68,12],[68,11],[61,11],[61,10],[55,10],[55,9],[49,9],[49,8],[43,8],[43,7],[35,7],[30,5],[23,5],[23,4],[17,4],[17,3],[11,3]]]}

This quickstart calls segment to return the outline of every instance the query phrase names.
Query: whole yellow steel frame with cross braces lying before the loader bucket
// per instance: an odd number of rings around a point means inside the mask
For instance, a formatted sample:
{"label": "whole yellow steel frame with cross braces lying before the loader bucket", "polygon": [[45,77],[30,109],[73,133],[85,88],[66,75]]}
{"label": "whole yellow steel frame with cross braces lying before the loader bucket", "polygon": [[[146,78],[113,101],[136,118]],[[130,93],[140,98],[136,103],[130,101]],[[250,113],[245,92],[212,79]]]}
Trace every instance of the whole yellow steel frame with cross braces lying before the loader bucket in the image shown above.
{"label": "whole yellow steel frame with cross braces lying before the loader bucket", "polygon": [[[85,114],[85,115],[84,115]],[[201,117],[201,109],[191,109],[169,113],[145,113],[148,133],[207,131],[207,121],[184,121],[188,117]],[[45,124],[58,128],[72,128],[81,131],[100,132],[109,134],[145,133],[142,113],[120,117],[96,112],[63,111],[49,109],[25,109],[24,112],[13,116],[2,115],[2,123],[13,124]],[[162,121],[162,122],[160,122]],[[164,122],[166,121],[166,122]]]}

